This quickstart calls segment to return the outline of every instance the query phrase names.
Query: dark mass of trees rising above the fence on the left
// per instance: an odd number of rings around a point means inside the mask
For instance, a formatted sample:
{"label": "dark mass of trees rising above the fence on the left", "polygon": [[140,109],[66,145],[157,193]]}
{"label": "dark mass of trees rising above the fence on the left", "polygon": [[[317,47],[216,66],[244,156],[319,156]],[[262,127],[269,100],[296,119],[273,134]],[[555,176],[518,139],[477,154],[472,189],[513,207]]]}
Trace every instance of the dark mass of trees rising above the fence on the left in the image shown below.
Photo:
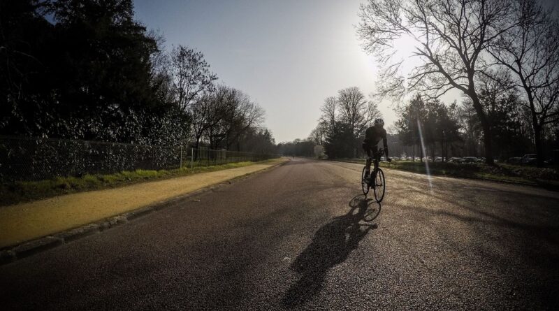
{"label": "dark mass of trees rising above the fence on the left", "polygon": [[264,111],[132,0],[0,1],[0,135],[275,151]]}

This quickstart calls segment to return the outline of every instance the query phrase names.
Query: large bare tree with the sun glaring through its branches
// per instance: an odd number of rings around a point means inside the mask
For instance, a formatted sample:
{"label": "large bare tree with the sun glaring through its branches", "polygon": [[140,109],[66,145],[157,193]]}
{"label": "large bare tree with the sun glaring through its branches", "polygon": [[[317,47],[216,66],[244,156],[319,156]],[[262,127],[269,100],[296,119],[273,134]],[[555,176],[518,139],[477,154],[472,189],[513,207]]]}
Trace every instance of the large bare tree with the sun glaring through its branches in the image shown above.
{"label": "large bare tree with the sun glaring through its branches", "polygon": [[[472,99],[484,129],[486,162],[493,164],[491,122],[476,90],[486,71],[486,46],[511,25],[506,0],[369,0],[361,6],[358,35],[364,48],[386,66],[379,94],[402,99],[410,91],[437,99],[458,89]],[[394,60],[394,41],[414,42],[419,60],[407,77],[400,74],[403,60]]]}

